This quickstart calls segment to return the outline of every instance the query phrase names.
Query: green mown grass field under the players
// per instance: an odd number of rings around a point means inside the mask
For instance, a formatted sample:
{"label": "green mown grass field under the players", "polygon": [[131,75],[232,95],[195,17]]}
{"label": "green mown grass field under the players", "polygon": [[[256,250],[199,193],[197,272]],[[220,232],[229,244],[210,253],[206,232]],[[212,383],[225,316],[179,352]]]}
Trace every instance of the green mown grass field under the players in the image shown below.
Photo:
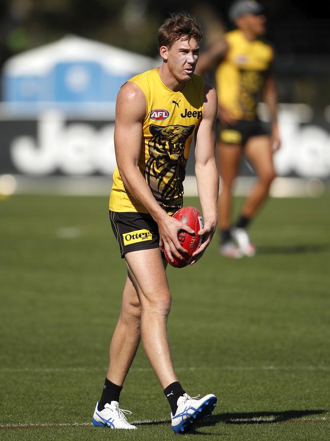
{"label": "green mown grass field under the players", "polygon": [[[107,198],[14,196],[0,216],[0,439],[175,438],[142,347],[121,394],[138,430],[91,426],[125,277]],[[221,258],[214,240],[169,268],[179,379],[218,396],[185,438],[330,439],[329,221],[328,194],[272,199],[251,227],[257,256]]]}

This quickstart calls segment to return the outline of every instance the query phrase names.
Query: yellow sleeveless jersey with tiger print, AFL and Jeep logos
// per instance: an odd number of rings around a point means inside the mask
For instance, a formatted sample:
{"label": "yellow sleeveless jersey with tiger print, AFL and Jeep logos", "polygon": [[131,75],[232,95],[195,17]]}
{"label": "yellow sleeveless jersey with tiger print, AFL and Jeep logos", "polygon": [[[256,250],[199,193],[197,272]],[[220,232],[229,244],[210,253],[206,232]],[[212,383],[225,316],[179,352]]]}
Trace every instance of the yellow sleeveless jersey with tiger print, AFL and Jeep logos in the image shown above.
{"label": "yellow sleeveless jersey with tiger print, AFL and Jeep logos", "polygon": [[[129,81],[146,98],[139,168],[161,207],[173,214],[183,203],[183,181],[193,132],[203,117],[205,81],[192,75],[184,89],[173,92],[161,81],[158,68]],[[113,174],[109,208],[115,212],[147,213],[121,180],[118,167]]]}

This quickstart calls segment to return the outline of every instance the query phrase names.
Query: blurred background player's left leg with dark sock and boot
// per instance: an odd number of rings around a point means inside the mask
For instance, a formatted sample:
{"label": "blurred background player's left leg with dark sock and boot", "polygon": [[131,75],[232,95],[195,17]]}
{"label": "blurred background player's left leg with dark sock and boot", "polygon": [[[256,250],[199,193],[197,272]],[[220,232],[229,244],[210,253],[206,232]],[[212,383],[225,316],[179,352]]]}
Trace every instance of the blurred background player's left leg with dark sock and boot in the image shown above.
{"label": "blurred background player's left leg with dark sock and boot", "polygon": [[220,252],[228,257],[241,257],[230,236],[230,214],[232,212],[232,187],[237,177],[242,147],[240,144],[217,145],[221,190],[218,200],[218,217],[220,229]]}

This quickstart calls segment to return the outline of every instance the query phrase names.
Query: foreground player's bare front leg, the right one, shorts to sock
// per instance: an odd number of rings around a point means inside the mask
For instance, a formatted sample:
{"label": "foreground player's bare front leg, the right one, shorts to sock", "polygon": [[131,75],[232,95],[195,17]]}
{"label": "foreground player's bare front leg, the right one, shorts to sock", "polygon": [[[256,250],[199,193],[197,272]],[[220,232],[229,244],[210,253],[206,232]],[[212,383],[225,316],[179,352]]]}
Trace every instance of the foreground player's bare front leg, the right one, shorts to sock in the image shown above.
{"label": "foreground player's bare front leg, the right one, shorts to sock", "polygon": [[125,255],[130,276],[137,287],[142,307],[141,338],[148,360],[165,389],[177,381],[167,338],[167,316],[171,293],[159,249]]}

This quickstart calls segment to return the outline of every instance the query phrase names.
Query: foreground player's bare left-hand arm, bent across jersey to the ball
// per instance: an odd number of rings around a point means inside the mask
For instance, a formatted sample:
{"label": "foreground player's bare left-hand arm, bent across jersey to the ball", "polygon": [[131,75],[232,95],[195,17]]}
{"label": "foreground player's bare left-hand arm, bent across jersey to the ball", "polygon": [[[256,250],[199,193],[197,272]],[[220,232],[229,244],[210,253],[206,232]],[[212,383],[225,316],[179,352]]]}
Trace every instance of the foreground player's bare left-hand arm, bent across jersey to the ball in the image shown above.
{"label": "foreground player's bare left-hand arm, bent across jersey to the ball", "polygon": [[[187,251],[178,240],[178,230],[189,233],[193,230],[169,216],[154,198],[144,179],[139,161],[142,146],[142,121],[146,114],[146,99],[140,87],[132,82],[125,83],[117,96],[115,121],[115,152],[117,166],[124,187],[147,209],[157,222],[161,245],[169,258],[172,254],[180,258]],[[179,253],[180,252],[180,253]]]}

